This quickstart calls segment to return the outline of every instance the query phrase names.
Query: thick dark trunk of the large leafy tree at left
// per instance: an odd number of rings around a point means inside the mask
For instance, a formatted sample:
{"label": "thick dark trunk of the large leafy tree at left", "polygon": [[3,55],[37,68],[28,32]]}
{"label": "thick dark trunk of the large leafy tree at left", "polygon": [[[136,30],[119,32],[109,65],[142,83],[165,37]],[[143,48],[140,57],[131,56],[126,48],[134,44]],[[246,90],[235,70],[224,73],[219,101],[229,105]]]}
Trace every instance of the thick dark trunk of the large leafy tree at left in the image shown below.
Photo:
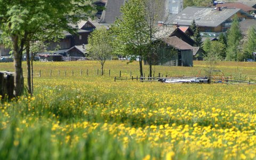
{"label": "thick dark trunk of the large leafy tree at left", "polygon": [[22,94],[22,50],[23,46],[21,45],[21,49],[18,47],[18,36],[12,37],[13,41],[13,55],[14,55],[14,91],[13,94],[17,98]]}

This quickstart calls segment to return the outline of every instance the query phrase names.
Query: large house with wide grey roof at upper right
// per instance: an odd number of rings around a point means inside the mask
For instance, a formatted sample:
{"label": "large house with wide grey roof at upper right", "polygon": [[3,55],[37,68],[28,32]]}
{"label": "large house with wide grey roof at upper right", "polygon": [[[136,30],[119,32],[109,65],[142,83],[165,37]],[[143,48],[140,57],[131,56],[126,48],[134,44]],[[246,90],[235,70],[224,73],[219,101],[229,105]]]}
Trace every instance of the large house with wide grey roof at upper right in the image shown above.
{"label": "large house with wide grey roof at upper right", "polygon": [[242,9],[189,6],[166,21],[166,24],[173,25],[175,23],[180,26],[190,26],[192,21],[195,20],[203,34],[217,36],[231,27],[235,15],[237,15],[239,21],[253,18],[252,15]]}

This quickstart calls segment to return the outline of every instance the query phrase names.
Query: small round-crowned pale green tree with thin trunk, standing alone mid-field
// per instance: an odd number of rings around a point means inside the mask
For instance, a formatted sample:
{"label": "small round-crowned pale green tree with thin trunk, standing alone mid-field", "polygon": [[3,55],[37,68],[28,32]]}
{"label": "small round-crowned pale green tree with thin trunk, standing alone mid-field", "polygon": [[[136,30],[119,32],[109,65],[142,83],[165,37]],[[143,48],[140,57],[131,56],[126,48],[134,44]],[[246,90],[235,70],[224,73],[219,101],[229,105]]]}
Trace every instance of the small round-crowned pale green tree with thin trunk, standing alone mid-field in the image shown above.
{"label": "small round-crowned pale green tree with thin trunk, standing alone mid-field", "polygon": [[103,75],[104,64],[112,53],[111,42],[113,41],[110,31],[106,28],[100,28],[93,31],[88,39],[88,48],[89,57],[92,57],[100,61],[101,65],[101,75]]}

